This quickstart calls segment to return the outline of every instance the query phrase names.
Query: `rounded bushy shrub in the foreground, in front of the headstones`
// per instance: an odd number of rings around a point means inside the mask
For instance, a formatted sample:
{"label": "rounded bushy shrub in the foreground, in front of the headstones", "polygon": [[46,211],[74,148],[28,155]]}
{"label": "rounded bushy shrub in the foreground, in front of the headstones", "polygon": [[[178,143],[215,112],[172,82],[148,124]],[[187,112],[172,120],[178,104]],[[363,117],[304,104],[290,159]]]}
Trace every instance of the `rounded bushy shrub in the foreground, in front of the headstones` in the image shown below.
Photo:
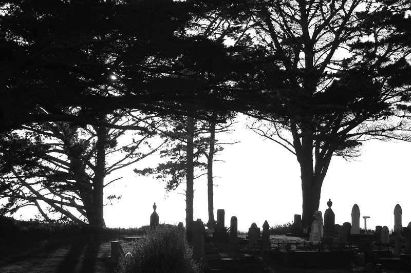
{"label": "rounded bushy shrub in the foreground, in front of the headstones", "polygon": [[177,226],[160,225],[136,241],[131,256],[123,257],[117,272],[200,272],[185,234]]}

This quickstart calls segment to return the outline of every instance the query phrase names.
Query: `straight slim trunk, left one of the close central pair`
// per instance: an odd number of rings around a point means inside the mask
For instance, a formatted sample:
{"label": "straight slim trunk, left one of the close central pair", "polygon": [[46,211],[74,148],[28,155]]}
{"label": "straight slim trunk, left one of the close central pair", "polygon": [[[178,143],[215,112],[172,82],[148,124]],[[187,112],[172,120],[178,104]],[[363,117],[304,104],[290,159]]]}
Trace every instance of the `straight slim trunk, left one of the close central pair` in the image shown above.
{"label": "straight slim trunk, left one of the close central pair", "polygon": [[194,118],[187,117],[187,165],[185,190],[185,226],[194,221]]}

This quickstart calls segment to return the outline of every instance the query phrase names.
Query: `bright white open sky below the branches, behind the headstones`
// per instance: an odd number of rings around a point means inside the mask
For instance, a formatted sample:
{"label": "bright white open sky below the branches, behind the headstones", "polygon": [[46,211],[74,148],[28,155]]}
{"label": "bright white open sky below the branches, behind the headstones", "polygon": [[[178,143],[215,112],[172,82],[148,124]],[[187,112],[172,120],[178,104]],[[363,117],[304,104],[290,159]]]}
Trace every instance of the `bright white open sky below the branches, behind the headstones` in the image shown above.
{"label": "bright white open sky below the branches, behind the headstones", "polygon": [[[270,226],[294,220],[302,214],[300,167],[295,156],[271,140],[237,124],[235,132],[216,137],[220,142],[241,141],[227,145],[219,156],[225,162],[214,166],[214,217],[217,209],[225,209],[226,226],[236,216],[238,229],[247,231],[255,222],[261,227],[265,220]],[[230,140],[231,139],[231,140]],[[411,192],[409,155],[411,143],[368,141],[363,154],[356,161],[346,162],[333,157],[322,187],[320,211],[325,212],[327,201],[333,202],[335,223],[351,222],[354,204],[360,207],[360,226],[367,228],[386,225],[394,228],[394,207],[402,207],[402,225],[411,221]],[[151,177],[137,176],[133,169],[152,164],[156,157],[144,159],[129,169],[114,173],[112,179],[122,176],[105,190],[105,195],[122,195],[122,199],[106,206],[104,218],[109,227],[140,227],[150,224],[153,203],[161,223],[185,224],[185,184],[165,197],[165,182]],[[108,178],[107,181],[110,179]],[[194,185],[194,219],[208,220],[207,180]]]}

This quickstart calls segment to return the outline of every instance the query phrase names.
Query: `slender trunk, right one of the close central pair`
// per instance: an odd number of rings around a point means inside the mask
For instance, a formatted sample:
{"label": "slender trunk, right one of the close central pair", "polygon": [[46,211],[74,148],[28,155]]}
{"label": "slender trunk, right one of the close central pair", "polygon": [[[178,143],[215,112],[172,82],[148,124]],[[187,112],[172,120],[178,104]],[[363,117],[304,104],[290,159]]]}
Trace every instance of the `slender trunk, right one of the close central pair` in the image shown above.
{"label": "slender trunk, right one of the close central pair", "polygon": [[214,160],[214,142],[215,142],[215,122],[210,124],[210,150],[207,157],[207,186],[209,202],[209,221],[207,226],[210,229],[215,228],[214,220],[214,193],[213,193],[213,160]]}

